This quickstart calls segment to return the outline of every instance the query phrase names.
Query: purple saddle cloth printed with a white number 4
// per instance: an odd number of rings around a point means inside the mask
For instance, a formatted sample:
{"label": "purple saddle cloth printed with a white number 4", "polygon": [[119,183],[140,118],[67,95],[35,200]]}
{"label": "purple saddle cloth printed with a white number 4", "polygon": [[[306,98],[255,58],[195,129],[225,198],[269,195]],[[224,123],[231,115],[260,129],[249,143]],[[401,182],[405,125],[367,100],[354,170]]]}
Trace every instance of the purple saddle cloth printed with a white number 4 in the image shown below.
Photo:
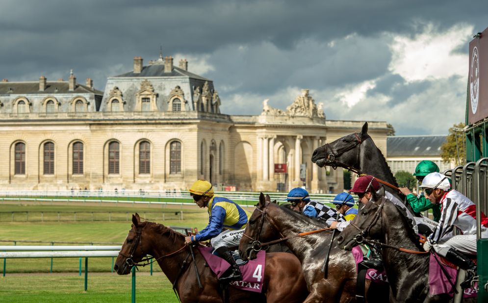
{"label": "purple saddle cloth printed with a white number 4", "polygon": [[[213,248],[211,247],[198,247],[198,250],[204,256],[205,262],[208,267],[220,278],[231,265],[226,260],[219,256],[212,254]],[[242,274],[242,281],[232,281],[229,285],[235,288],[254,291],[261,293],[262,284],[264,280],[264,266],[266,255],[265,252],[257,252],[257,257],[254,260],[250,260],[244,265],[239,266]]]}

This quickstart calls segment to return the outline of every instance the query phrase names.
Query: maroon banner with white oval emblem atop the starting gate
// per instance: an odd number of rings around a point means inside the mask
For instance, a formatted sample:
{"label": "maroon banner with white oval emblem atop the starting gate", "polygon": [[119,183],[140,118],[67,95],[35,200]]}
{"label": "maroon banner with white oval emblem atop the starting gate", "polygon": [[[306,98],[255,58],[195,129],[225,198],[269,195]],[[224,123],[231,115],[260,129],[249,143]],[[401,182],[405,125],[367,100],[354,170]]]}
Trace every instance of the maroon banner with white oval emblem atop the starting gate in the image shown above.
{"label": "maroon banner with white oval emblem atop the starting gate", "polygon": [[469,42],[468,124],[488,117],[488,28]]}

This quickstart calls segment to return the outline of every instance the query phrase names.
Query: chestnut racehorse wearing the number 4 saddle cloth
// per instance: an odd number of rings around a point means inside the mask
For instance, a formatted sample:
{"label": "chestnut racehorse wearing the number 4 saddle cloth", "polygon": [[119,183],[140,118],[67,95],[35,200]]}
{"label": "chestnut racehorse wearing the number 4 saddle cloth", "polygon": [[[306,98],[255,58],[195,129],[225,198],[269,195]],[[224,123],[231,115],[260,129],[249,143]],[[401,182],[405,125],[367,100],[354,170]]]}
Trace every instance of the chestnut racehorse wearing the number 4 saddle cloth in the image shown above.
{"label": "chestnut racehorse wearing the number 4 saddle cloth", "polygon": [[[182,234],[161,224],[141,222],[137,213],[132,215],[131,227],[114,265],[117,274],[127,275],[134,265],[138,265],[149,254],[157,260],[163,273],[174,285],[181,302],[224,301],[217,276],[205,266],[200,251],[194,249],[203,289],[197,285],[195,266]],[[307,285],[300,262],[293,254],[269,253],[266,254],[265,262],[262,293],[229,287],[230,302],[302,302],[307,297]]]}

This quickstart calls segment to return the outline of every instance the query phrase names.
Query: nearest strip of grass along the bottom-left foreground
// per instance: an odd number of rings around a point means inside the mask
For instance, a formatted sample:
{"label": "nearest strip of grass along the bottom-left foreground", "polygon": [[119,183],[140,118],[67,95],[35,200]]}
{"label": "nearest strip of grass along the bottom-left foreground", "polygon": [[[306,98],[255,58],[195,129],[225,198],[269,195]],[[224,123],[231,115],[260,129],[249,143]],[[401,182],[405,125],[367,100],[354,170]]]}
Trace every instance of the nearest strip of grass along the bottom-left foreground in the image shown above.
{"label": "nearest strip of grass along the bottom-left foreground", "polygon": [[[162,273],[136,274],[136,302],[178,302],[172,286]],[[130,302],[131,275],[89,274],[88,290],[84,276],[77,274],[12,274],[0,278],[0,302]]]}

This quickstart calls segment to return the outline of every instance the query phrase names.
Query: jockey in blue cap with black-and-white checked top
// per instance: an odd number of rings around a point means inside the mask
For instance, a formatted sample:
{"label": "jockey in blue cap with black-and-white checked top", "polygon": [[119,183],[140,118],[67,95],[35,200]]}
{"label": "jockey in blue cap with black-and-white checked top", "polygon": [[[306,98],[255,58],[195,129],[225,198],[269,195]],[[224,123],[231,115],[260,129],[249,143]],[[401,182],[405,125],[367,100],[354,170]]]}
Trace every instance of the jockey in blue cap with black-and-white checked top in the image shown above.
{"label": "jockey in blue cap with black-and-white checked top", "polygon": [[308,192],[303,188],[293,188],[285,200],[291,203],[291,209],[303,212],[308,217],[324,219],[328,226],[335,221],[346,221],[344,216],[332,207],[310,200]]}

